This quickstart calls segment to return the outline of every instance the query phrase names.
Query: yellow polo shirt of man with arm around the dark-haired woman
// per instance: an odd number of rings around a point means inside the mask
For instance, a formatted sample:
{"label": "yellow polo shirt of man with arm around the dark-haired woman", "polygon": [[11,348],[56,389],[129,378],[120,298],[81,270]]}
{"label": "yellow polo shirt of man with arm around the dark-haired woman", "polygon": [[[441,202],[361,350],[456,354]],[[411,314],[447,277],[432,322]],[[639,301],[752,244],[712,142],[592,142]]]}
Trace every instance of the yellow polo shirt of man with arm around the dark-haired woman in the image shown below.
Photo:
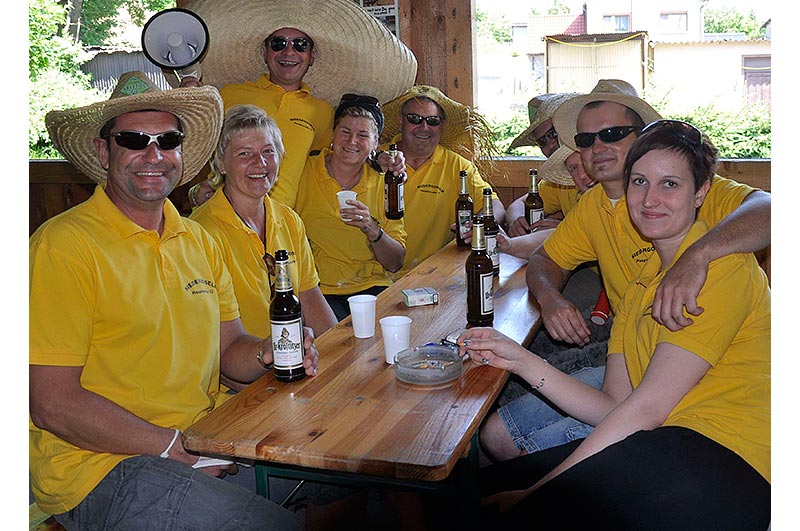
{"label": "yellow polo shirt of man with arm around the dark-haired woman", "polygon": [[[697,218],[713,227],[753,191],[747,185],[714,176]],[[556,264],[567,270],[597,260],[608,301],[615,311],[628,282],[639,275],[654,250],[634,228],[625,197],[612,205],[599,185],[583,194],[545,240],[544,249]]]}

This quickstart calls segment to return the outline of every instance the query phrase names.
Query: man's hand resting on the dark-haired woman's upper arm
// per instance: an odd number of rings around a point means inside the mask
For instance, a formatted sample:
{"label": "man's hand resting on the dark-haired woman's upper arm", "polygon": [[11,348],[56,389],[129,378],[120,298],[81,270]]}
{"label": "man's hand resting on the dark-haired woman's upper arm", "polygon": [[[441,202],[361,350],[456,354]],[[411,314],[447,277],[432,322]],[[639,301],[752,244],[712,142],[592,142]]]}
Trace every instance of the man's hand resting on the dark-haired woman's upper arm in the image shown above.
{"label": "man's hand resting on the dark-haired woman's upper arm", "polygon": [[688,249],[664,275],[653,300],[653,319],[673,332],[689,326],[694,321],[684,315],[698,316],[703,308],[697,305],[697,295],[708,276],[708,262],[697,258]]}

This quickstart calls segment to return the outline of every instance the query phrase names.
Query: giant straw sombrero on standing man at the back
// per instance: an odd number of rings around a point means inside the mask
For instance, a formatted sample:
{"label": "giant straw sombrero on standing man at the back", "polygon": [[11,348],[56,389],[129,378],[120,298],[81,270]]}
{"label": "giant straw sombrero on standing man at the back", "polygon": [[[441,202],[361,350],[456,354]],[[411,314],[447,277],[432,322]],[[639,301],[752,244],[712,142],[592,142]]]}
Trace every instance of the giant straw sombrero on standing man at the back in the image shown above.
{"label": "giant straw sombrero on standing man at the back", "polygon": [[267,72],[264,40],[281,28],[314,41],[316,59],[304,81],[333,107],[348,92],[389,101],[417,75],[411,50],[353,0],[195,0],[186,8],[208,26],[203,83],[217,88]]}

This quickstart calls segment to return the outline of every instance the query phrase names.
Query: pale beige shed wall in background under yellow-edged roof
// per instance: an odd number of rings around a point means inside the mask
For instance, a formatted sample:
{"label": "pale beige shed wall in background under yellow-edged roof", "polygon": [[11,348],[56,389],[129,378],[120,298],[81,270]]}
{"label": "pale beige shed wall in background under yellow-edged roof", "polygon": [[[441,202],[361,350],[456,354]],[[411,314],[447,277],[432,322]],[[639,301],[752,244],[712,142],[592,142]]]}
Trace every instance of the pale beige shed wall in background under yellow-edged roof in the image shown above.
{"label": "pale beige shed wall in background under yellow-edged roof", "polygon": [[646,86],[644,39],[614,43],[547,41],[547,92],[589,92],[600,79]]}

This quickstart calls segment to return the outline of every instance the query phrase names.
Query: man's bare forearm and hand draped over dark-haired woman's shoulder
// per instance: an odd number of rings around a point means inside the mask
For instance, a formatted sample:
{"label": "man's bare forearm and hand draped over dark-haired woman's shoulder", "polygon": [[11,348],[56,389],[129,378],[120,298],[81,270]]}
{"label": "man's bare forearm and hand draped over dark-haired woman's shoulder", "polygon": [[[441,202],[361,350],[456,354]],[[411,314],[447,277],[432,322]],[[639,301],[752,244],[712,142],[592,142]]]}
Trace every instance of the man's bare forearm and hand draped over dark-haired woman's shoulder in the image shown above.
{"label": "man's bare forearm and hand draped over dark-haired woman's shoulder", "polygon": [[771,196],[756,190],[728,217],[694,242],[664,275],[653,301],[653,318],[677,331],[694,321],[684,314],[700,315],[697,295],[703,288],[709,264],[729,254],[754,253],[770,244]]}

